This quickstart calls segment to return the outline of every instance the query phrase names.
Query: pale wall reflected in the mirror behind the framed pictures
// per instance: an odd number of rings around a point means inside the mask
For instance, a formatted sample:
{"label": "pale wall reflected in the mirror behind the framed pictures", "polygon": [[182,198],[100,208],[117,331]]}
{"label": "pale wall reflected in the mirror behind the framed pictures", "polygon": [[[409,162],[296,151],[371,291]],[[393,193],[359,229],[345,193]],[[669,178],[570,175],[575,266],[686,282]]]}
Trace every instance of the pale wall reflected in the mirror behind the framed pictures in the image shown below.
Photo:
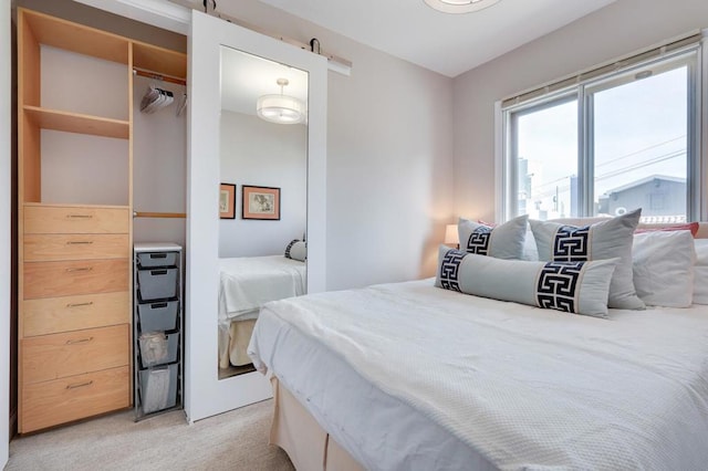
{"label": "pale wall reflected in the mirror behind the framed pictures", "polygon": [[[283,254],[305,232],[306,128],[227,111],[220,125],[221,182],[237,188],[236,218],[219,221],[219,257]],[[241,219],[243,185],[280,188],[280,220]]]}

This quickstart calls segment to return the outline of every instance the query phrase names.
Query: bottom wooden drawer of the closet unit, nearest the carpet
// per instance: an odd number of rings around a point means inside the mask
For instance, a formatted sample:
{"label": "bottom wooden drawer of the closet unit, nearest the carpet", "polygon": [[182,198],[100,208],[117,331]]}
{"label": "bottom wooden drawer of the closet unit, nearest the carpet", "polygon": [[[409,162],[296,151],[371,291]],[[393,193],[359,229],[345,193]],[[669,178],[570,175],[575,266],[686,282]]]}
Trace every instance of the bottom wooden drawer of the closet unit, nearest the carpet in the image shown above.
{"label": "bottom wooden drawer of the closet unit, nearest the carpet", "polygon": [[129,368],[106,369],[22,388],[20,432],[27,433],[131,405]]}

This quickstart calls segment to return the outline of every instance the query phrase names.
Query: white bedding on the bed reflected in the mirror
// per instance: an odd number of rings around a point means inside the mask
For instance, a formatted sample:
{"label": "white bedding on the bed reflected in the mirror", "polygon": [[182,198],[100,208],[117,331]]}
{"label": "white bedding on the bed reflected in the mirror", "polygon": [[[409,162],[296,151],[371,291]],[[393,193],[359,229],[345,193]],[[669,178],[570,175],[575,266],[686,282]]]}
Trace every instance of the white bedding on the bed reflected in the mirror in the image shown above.
{"label": "white bedding on the bed reflected in the mirror", "polygon": [[283,255],[219,260],[219,324],[256,318],[267,302],[305,292],[305,264]]}

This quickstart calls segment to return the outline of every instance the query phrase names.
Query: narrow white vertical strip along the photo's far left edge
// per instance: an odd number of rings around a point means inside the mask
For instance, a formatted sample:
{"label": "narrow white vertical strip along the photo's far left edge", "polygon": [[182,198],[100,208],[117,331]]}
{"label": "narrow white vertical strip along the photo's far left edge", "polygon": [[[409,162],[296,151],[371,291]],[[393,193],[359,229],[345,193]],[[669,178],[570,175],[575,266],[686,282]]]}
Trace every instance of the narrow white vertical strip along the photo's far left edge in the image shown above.
{"label": "narrow white vertical strip along the photo's far left edge", "polygon": [[11,56],[10,1],[0,1],[0,468],[9,456],[10,414],[10,206]]}

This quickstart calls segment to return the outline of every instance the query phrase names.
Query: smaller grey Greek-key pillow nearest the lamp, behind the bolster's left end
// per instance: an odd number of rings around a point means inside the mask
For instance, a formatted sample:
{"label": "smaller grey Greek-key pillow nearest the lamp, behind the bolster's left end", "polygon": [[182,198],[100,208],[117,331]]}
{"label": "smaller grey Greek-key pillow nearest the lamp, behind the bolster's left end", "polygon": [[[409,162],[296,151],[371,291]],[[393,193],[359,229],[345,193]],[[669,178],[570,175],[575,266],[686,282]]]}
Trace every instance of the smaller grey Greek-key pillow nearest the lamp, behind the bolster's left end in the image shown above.
{"label": "smaller grey Greek-key pillow nearest the lamp, behind the bolster's left end", "polygon": [[460,250],[497,259],[521,259],[528,220],[524,214],[491,227],[460,218],[457,224]]}

